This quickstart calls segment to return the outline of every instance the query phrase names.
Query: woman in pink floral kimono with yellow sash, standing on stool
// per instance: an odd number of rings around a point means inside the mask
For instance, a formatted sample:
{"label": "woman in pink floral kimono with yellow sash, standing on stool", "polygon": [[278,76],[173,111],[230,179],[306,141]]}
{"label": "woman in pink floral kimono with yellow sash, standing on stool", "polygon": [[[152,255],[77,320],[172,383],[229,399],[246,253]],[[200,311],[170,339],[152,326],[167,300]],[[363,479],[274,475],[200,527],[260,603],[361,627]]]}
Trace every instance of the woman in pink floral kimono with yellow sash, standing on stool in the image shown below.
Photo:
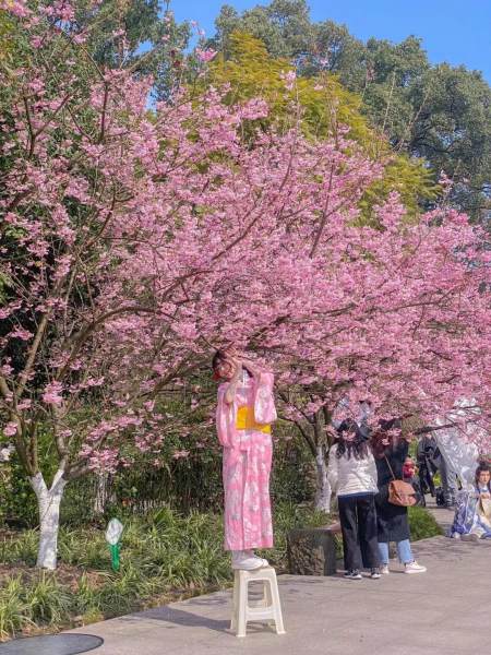
{"label": "woman in pink floral kimono with yellow sash, standing on stool", "polygon": [[273,374],[225,350],[215,354],[213,370],[221,381],[216,425],[224,446],[225,549],[232,551],[233,569],[253,570],[267,565],[253,549],[273,546]]}

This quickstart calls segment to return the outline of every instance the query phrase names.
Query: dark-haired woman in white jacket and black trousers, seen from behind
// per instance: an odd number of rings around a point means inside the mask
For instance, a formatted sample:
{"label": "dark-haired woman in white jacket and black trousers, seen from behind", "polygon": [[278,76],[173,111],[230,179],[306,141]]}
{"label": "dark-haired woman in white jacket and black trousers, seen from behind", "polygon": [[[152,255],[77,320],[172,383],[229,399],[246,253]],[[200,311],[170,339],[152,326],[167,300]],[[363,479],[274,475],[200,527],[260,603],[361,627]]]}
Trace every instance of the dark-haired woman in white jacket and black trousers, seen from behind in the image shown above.
{"label": "dark-haired woman in white jacket and black trousers, seen from behind", "polygon": [[356,425],[331,448],[327,476],[337,495],[345,552],[345,577],[361,580],[360,569],[380,577],[375,493],[376,465],[368,440]]}

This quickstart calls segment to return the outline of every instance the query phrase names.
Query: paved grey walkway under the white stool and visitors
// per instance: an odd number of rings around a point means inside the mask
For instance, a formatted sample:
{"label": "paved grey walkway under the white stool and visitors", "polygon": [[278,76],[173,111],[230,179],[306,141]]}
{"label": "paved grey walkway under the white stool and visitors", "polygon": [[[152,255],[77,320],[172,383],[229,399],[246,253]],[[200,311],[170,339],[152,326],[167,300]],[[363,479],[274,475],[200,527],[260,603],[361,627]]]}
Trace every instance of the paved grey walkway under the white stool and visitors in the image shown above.
{"label": "paved grey walkway under the white stool and visitors", "polygon": [[[442,523],[445,510],[432,510]],[[228,631],[230,594],[220,592],[87,626],[97,655],[471,655],[486,650],[491,543],[434,537],[415,544],[428,573],[398,564],[381,580],[282,575],[287,634],[258,626]],[[484,644],[484,645],[483,645]]]}

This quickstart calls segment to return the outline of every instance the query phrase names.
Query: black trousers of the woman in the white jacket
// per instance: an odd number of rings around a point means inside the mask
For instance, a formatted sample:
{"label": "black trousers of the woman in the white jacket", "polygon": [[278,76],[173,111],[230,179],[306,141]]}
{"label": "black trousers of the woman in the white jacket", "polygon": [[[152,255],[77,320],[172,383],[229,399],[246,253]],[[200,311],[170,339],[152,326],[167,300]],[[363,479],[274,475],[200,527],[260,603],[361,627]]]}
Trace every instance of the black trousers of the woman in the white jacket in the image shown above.
{"label": "black trousers of the woman in the white jacket", "polygon": [[373,569],[380,565],[376,510],[373,493],[339,496],[339,522],[345,551],[345,569]]}

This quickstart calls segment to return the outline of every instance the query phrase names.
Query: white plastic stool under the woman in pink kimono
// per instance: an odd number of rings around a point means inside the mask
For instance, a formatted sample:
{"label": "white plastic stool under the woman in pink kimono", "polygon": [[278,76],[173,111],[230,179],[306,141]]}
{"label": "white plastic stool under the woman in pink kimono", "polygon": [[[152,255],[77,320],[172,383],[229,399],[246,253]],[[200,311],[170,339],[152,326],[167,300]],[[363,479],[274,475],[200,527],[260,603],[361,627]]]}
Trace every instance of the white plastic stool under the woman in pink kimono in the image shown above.
{"label": "white plastic stool under the woman in pink kimono", "polygon": [[[263,583],[263,598],[252,604],[249,603],[250,582]],[[277,634],[285,634],[278,583],[273,567],[264,567],[254,571],[236,571],[232,603],[230,630],[236,632],[237,636],[246,636],[249,621],[274,624]]]}

